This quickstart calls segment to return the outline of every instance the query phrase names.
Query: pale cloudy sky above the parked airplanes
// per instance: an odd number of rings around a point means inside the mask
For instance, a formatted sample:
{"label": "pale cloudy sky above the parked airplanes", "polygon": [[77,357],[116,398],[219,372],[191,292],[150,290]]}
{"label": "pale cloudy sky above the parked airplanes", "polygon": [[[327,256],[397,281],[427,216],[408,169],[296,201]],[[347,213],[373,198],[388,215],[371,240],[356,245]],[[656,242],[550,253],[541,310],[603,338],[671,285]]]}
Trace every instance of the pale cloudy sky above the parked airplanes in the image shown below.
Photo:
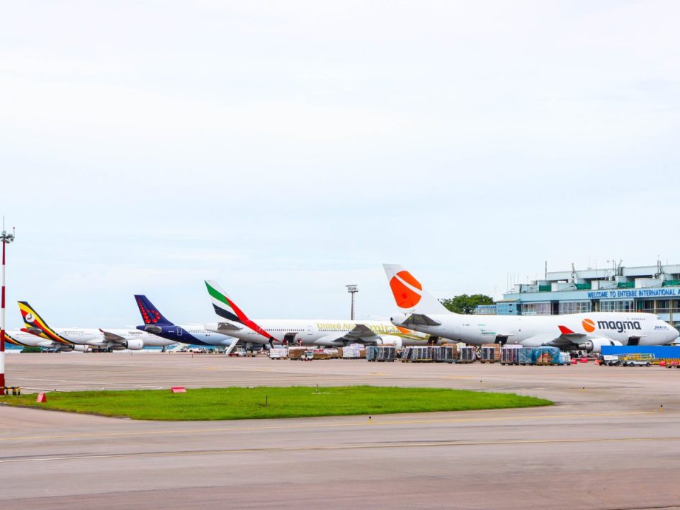
{"label": "pale cloudy sky above the parked airplanes", "polygon": [[7,324],[389,317],[679,263],[676,1],[0,0]]}

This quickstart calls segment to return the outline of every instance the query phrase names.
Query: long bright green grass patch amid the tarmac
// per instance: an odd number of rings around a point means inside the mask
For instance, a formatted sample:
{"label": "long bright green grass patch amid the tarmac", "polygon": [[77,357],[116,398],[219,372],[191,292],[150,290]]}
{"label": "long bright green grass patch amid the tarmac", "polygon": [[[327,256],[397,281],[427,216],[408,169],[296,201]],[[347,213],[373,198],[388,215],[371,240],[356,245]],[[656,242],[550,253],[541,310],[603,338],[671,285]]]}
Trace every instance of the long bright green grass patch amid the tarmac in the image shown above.
{"label": "long bright green grass patch amid the tarmac", "polygon": [[466,411],[553,404],[510,393],[375,386],[227,387],[187,390],[56,392],[38,404],[35,395],[0,397],[0,402],[42,409],[129,416],[152,420],[295,418],[349,414]]}

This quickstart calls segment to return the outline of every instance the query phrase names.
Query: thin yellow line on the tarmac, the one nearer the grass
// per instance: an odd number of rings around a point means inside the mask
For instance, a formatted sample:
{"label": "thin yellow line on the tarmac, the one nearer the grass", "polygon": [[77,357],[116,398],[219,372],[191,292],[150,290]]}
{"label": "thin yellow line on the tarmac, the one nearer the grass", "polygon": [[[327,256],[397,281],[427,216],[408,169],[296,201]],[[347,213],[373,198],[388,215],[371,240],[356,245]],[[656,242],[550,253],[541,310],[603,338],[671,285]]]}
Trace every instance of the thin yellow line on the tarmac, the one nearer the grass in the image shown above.
{"label": "thin yellow line on the tarmac, the one nearer the grass", "polygon": [[[33,409],[33,408],[30,408]],[[40,410],[40,409],[38,409]],[[441,418],[441,419],[392,419],[382,421],[380,415],[376,419],[362,421],[344,421],[339,423],[325,424],[291,424],[291,425],[256,425],[256,426],[233,426],[216,427],[212,429],[183,429],[183,430],[149,430],[149,431],[130,431],[130,432],[103,432],[103,433],[73,433],[53,436],[16,436],[0,438],[4,441],[29,441],[31,439],[69,439],[86,437],[125,437],[125,436],[149,436],[149,435],[172,435],[186,433],[205,433],[205,432],[230,432],[230,431],[257,431],[257,430],[293,430],[293,429],[331,429],[344,426],[387,426],[387,425],[421,425],[421,424],[446,424],[446,423],[473,423],[480,421],[509,421],[509,420],[531,420],[531,419],[560,419],[560,418],[597,418],[604,416],[631,416],[638,414],[658,414],[658,411],[630,411],[612,413],[587,413],[587,414],[543,414],[538,416],[487,416],[481,418]],[[106,417],[106,416],[104,416]],[[320,417],[320,416],[317,416]],[[142,421],[142,420],[140,420]]]}

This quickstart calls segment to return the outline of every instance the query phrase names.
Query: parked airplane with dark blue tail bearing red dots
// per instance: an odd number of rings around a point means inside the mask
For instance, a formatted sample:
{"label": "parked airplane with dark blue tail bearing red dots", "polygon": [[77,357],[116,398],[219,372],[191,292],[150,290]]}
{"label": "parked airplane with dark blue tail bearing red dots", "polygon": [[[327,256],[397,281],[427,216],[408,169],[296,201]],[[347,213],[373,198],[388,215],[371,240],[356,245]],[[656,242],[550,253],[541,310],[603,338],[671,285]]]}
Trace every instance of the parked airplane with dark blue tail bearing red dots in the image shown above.
{"label": "parked airplane with dark blue tail bearing red dots", "polygon": [[163,317],[163,314],[158,311],[157,307],[154,307],[153,303],[145,295],[135,294],[135,301],[144,321],[144,325],[137,326],[137,329],[174,342],[181,342],[182,344],[224,346],[227,347],[227,354],[238,343],[238,339],[232,336],[215,331],[207,331],[203,324],[176,325],[170,322]]}

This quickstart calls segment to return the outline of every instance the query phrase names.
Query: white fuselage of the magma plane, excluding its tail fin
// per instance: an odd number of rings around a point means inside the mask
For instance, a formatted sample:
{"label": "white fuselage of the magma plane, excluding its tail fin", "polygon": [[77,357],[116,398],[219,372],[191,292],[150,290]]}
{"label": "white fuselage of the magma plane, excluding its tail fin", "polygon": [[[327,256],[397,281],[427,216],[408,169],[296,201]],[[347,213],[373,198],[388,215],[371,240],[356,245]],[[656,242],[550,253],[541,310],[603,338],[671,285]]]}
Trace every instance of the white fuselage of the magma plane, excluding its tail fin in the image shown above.
{"label": "white fuselage of the magma plane, excluding its tail fin", "polygon": [[[546,344],[599,351],[601,345],[664,345],[678,336],[678,331],[654,314],[592,312],[569,315],[464,315],[426,314],[426,319],[410,319],[411,314],[395,314],[390,319],[397,326],[439,336],[465,344],[480,346],[497,341],[536,347]],[[416,314],[417,317],[417,314]],[[438,324],[418,324],[417,322]],[[591,347],[591,348],[588,348]]]}

